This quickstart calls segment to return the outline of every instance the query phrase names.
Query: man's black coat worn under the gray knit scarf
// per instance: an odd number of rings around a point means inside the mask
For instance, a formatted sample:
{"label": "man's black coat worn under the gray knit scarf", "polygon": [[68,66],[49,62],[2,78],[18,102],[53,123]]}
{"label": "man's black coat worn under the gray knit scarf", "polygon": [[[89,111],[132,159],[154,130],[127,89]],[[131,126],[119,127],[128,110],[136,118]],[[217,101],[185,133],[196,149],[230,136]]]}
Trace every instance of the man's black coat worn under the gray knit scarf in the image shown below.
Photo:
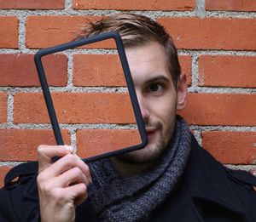
{"label": "man's black coat worn under the gray knit scarf", "polygon": [[[37,162],[31,162],[7,174],[5,188],[0,191],[1,222],[38,221],[37,171]],[[150,221],[256,222],[253,185],[256,178],[252,174],[224,168],[193,138],[183,178],[172,195],[152,212]],[[77,208],[76,221],[96,221],[89,202]]]}

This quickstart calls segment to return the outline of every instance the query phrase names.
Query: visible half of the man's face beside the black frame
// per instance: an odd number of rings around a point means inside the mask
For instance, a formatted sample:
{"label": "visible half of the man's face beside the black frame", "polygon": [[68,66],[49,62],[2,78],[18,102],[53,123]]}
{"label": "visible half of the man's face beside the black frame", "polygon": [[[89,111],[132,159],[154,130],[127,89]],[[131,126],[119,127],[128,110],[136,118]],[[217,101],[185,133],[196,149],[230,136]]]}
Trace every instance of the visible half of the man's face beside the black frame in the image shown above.
{"label": "visible half of the man's face beside the black frame", "polygon": [[122,155],[125,162],[152,162],[172,138],[177,110],[177,90],[168,69],[165,49],[156,42],[125,48],[148,135],[148,145]]}

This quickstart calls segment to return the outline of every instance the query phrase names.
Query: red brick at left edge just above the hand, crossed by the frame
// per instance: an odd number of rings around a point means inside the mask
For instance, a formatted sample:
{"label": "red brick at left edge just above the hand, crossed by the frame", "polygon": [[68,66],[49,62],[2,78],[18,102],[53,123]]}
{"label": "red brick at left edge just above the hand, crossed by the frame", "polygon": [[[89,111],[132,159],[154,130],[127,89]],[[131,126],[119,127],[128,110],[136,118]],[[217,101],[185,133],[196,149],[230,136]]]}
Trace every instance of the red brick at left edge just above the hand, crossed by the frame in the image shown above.
{"label": "red brick at left edge just above the hand, crossed by the frame", "polygon": [[[65,144],[70,144],[67,130],[62,132]],[[52,130],[0,129],[1,161],[32,161],[37,159],[38,145],[56,145]]]}

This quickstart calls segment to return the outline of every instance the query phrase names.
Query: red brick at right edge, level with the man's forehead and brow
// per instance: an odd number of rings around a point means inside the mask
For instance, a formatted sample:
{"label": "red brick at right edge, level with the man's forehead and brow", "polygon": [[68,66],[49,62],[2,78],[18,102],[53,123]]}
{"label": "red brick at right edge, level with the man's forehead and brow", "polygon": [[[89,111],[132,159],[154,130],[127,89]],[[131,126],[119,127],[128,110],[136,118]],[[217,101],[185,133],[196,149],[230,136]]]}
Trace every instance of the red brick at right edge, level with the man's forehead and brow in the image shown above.
{"label": "red brick at right edge, level with the man's forehead and brow", "polygon": [[201,86],[256,87],[256,57],[201,55],[199,81]]}

